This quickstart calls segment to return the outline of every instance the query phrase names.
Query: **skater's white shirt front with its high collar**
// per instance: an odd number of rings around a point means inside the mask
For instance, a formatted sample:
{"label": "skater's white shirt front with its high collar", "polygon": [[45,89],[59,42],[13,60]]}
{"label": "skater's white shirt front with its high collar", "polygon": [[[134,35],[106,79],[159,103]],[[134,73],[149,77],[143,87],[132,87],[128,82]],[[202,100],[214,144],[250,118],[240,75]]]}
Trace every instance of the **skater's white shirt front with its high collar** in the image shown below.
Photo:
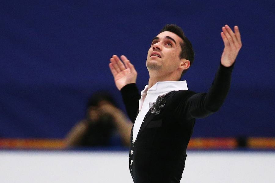
{"label": "skater's white shirt front with its high collar", "polygon": [[188,90],[186,80],[184,81],[159,81],[156,82],[150,89],[148,84],[144,90],[141,91],[141,99],[139,99],[139,113],[134,123],[133,140],[136,141],[138,132],[145,115],[148,113],[150,107],[149,102],[156,102],[160,95],[165,95],[171,91]]}

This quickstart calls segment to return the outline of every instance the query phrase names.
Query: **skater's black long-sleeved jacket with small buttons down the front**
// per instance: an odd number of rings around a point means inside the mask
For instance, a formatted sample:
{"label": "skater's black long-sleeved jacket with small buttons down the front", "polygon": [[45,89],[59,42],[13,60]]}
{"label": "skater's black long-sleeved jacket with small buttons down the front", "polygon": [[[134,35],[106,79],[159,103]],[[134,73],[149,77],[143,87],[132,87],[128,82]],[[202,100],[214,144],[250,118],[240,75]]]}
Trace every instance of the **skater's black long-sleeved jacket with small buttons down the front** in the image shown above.
{"label": "skater's black long-sleeved jacket with small buttons down the front", "polygon": [[[232,70],[233,66],[220,64],[207,93],[180,90],[166,94],[160,113],[149,111],[145,115],[135,142],[132,128],[129,167],[134,183],[180,182],[195,119],[207,117],[222,106],[229,91]],[[141,98],[136,84],[127,84],[121,94],[134,123]]]}

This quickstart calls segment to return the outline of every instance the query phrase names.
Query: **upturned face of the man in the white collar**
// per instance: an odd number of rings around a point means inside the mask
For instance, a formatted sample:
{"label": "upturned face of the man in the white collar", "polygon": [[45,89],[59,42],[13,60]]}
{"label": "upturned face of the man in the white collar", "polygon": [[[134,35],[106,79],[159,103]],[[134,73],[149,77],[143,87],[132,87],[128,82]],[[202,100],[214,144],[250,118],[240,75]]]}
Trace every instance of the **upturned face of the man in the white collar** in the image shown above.
{"label": "upturned face of the man in the white collar", "polygon": [[180,66],[182,38],[177,34],[164,31],[153,39],[148,50],[146,66],[149,70],[158,70],[160,74],[170,74]]}

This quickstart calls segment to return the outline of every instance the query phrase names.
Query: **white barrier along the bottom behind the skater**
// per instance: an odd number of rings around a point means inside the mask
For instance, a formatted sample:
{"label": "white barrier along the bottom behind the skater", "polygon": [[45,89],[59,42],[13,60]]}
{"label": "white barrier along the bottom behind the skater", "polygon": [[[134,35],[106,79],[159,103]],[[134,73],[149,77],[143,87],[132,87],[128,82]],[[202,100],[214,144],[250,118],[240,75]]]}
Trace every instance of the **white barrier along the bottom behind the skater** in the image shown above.
{"label": "white barrier along the bottom behind the skater", "polygon": [[[131,183],[128,152],[0,151],[1,183]],[[189,151],[181,182],[274,183],[275,152]]]}

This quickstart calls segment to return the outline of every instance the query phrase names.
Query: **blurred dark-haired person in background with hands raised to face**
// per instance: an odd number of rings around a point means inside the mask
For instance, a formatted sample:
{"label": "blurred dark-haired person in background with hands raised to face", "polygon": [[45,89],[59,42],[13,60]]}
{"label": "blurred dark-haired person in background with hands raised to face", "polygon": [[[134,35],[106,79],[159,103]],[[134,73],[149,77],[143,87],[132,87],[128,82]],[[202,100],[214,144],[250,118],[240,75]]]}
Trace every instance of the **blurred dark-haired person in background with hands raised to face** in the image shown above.
{"label": "blurred dark-haired person in background with hands raised to face", "polygon": [[87,103],[86,118],[68,133],[65,147],[129,146],[132,123],[105,91],[94,93]]}

